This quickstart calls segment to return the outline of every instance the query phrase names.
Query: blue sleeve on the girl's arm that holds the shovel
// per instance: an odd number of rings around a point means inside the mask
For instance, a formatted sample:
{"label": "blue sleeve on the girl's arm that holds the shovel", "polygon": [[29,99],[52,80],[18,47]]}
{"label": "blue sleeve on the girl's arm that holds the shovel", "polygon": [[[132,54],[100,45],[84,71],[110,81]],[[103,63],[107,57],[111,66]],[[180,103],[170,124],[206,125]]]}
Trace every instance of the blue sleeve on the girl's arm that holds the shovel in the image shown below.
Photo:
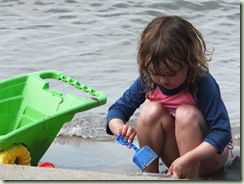
{"label": "blue sleeve on the girl's arm that holds the shovel", "polygon": [[146,100],[145,89],[138,77],[136,81],[127,89],[124,94],[108,109],[106,118],[106,131],[113,133],[108,127],[108,123],[113,118],[119,118],[125,123],[129,121],[135,110]]}

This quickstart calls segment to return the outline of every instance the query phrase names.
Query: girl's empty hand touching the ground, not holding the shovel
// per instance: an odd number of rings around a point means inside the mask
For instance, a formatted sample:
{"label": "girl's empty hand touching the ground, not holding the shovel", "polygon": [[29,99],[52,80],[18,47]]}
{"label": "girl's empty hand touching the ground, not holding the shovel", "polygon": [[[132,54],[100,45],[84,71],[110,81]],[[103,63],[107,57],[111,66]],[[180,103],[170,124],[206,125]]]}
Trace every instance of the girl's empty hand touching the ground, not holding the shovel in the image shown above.
{"label": "girl's empty hand touching the ground, not holding the shovel", "polygon": [[177,158],[169,167],[167,176],[173,175],[176,179],[196,179],[200,162],[192,163],[183,156]]}

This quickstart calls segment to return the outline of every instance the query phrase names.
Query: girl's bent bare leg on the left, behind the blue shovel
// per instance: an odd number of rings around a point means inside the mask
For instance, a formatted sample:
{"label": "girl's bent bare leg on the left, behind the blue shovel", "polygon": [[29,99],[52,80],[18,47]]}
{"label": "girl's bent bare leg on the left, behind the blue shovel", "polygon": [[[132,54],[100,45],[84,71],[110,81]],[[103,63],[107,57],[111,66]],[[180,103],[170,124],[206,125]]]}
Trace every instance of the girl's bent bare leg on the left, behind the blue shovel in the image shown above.
{"label": "girl's bent bare leg on the left, behind the blue shovel", "polygon": [[[167,167],[179,157],[174,131],[174,118],[160,103],[149,102],[143,107],[137,122],[140,147],[150,146]],[[145,171],[158,173],[158,161],[155,160]]]}

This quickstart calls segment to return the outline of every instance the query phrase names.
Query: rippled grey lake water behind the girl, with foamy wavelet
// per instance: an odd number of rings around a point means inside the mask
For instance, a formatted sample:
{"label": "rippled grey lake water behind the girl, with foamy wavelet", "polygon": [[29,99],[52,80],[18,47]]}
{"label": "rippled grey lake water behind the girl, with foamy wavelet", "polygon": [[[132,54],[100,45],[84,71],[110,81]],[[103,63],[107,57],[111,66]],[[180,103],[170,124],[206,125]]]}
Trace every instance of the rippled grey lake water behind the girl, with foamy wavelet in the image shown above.
{"label": "rippled grey lake water behind the girl, with foamy wavelet", "polygon": [[[162,14],[188,19],[203,33],[207,47],[215,49],[210,72],[220,85],[231,125],[237,130],[234,139],[238,141],[239,1],[1,0],[0,80],[57,70],[104,91],[108,95],[106,105],[76,114],[59,135],[113,141],[114,137],[105,132],[107,109],[138,76],[136,54],[140,33]],[[82,95],[60,83],[53,86],[64,93]],[[135,123],[138,113],[130,123]]]}

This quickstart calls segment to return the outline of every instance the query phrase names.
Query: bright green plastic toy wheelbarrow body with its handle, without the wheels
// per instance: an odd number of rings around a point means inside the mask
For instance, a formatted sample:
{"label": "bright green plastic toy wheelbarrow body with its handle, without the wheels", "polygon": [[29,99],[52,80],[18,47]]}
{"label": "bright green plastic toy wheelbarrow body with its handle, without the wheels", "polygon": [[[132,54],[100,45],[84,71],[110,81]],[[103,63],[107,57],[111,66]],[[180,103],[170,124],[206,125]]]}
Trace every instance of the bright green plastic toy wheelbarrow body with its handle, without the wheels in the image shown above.
{"label": "bright green plastic toy wheelbarrow body with its handle, without the wheels", "polygon": [[[50,89],[45,79],[66,82],[91,95],[63,95]],[[31,165],[49,148],[63,124],[82,111],[105,104],[107,96],[57,71],[41,71],[0,82],[0,151],[22,144],[30,152]]]}

